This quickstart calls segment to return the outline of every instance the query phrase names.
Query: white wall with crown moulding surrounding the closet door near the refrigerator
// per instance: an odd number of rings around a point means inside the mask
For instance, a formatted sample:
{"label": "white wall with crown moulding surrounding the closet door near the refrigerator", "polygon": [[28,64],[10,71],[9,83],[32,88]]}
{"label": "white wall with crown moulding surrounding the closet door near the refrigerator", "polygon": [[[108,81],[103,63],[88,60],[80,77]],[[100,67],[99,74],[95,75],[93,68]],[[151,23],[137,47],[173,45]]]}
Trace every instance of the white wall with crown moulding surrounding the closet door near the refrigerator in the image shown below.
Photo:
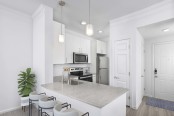
{"label": "white wall with crown moulding surrounding the closet door near the refrigerator", "polygon": [[[142,88],[139,79],[141,78],[141,55],[139,48],[141,42],[138,36],[138,27],[160,22],[163,20],[174,18],[174,1],[164,0],[159,4],[153,5],[146,9],[137,11],[127,16],[114,19],[110,22],[110,80],[114,81],[114,41],[121,39],[130,39],[131,44],[131,107],[137,109],[141,102],[141,93],[138,88]],[[113,85],[114,86],[114,85]]]}

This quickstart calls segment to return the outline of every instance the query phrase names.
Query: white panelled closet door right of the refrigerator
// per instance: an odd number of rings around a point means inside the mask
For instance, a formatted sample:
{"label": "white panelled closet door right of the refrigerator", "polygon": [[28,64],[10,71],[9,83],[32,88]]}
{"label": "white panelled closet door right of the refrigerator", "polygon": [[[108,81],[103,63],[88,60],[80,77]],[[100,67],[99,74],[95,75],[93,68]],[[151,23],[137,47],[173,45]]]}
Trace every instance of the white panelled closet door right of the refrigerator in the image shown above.
{"label": "white panelled closet door right of the refrigerator", "polygon": [[[115,41],[114,50],[114,86],[129,89],[129,40]],[[130,105],[129,92],[127,93],[127,105]]]}

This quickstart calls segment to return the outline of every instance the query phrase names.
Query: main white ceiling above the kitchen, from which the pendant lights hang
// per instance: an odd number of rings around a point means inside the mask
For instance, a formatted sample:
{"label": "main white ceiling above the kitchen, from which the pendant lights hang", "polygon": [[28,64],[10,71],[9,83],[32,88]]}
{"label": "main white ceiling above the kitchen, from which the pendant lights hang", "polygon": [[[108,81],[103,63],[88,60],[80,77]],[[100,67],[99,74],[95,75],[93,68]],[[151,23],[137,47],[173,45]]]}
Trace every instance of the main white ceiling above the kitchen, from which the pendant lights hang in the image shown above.
{"label": "main white ceiling above the kitchen, from which the pendant lights hang", "polygon": [[[85,26],[80,22],[88,22],[88,0],[64,0],[63,23],[68,29],[85,34]],[[109,21],[114,18],[138,11],[163,0],[91,0],[91,23],[94,25],[96,39],[109,37]],[[54,8],[54,20],[60,22],[58,0],[0,0],[0,4],[32,14],[43,3]],[[98,30],[103,33],[99,34]]]}

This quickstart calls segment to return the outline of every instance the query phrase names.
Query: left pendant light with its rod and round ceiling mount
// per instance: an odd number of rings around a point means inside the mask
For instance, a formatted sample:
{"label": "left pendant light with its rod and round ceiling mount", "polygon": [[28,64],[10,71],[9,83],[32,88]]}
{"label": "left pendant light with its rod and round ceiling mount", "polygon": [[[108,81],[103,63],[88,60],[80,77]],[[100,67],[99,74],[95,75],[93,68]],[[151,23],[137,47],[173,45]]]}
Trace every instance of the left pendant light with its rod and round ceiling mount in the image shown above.
{"label": "left pendant light with its rod and round ceiling mount", "polygon": [[62,32],[62,8],[63,8],[63,6],[65,6],[65,2],[61,0],[61,1],[59,1],[59,5],[61,7],[61,33],[59,35],[59,42],[63,43],[65,40],[65,36]]}

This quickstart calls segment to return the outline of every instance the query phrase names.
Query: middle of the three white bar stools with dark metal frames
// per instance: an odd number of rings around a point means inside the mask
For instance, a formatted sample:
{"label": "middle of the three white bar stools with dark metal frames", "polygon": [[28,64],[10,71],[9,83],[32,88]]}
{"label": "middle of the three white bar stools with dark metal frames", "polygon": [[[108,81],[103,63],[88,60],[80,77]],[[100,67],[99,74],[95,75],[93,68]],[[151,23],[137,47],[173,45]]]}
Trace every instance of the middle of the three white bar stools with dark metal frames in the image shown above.
{"label": "middle of the three white bar stools with dark metal frames", "polygon": [[[56,97],[51,96],[45,96],[41,99],[39,99],[39,105],[38,105],[38,116],[48,115],[49,113],[53,112],[53,108],[56,104],[60,104],[61,109],[64,107],[68,107],[68,103],[61,103],[60,101],[56,101]],[[49,115],[48,115],[49,116]]]}

